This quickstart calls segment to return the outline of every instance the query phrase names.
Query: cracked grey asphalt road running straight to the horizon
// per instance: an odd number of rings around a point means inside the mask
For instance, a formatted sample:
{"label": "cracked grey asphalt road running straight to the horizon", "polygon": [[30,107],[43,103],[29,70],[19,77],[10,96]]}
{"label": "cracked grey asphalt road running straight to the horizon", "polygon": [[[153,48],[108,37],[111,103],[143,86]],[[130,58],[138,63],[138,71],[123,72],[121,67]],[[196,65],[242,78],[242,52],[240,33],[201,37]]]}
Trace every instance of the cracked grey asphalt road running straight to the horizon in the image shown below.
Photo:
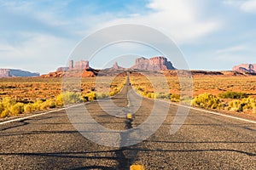
{"label": "cracked grey asphalt road running straight to the horizon", "polygon": [[87,115],[84,105],[69,108],[71,119],[55,111],[0,125],[0,169],[256,169],[253,122],[190,110],[170,134],[174,117],[183,117],[178,106],[141,98],[129,82],[112,99],[85,108]]}

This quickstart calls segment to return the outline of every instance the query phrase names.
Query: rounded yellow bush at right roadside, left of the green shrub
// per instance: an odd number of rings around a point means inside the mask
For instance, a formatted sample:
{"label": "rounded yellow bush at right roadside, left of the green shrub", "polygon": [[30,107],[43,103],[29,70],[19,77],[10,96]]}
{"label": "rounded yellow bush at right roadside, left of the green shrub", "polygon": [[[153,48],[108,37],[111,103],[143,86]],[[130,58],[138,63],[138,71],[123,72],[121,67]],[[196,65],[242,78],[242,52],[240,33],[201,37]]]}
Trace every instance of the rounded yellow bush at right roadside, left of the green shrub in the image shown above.
{"label": "rounded yellow bush at right roadside, left of the green shrub", "polygon": [[221,101],[212,94],[200,94],[191,101],[191,105],[202,108],[220,109]]}

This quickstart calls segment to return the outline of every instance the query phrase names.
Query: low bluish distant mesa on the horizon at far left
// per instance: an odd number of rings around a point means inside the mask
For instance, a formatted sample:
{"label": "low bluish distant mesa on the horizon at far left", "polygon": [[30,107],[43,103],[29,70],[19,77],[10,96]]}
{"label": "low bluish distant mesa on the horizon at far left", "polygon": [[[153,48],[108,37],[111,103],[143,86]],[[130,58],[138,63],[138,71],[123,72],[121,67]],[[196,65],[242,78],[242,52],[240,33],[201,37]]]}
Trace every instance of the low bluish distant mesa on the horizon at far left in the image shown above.
{"label": "low bluish distant mesa on the horizon at far left", "polygon": [[39,73],[15,69],[0,69],[0,78],[3,77],[39,77]]}

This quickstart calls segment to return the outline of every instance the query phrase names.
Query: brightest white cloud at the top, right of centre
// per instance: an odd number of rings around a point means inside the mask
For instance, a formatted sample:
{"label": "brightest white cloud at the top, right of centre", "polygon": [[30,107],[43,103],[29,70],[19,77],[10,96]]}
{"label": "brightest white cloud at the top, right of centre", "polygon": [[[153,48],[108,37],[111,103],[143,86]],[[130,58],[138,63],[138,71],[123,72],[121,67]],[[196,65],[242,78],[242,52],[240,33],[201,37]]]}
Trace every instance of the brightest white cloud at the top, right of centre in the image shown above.
{"label": "brightest white cloud at the top, right of centre", "polygon": [[221,22],[205,18],[201,14],[201,0],[151,0],[148,8],[151,12],[143,15],[131,15],[127,18],[110,20],[97,26],[113,26],[118,24],[140,24],[152,26],[166,35],[173,37],[176,42],[195,43],[213,31],[217,31]]}

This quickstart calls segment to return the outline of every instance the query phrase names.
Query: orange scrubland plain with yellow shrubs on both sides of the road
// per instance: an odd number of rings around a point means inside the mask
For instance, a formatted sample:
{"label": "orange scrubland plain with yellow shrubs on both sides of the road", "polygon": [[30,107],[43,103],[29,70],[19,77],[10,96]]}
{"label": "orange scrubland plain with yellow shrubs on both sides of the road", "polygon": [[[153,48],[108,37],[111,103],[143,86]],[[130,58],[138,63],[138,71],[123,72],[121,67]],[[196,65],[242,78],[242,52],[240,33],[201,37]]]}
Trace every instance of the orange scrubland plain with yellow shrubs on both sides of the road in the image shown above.
{"label": "orange scrubland plain with yellow shrubs on both sides of the road", "polygon": [[[241,112],[256,115],[255,76],[198,76],[193,75],[190,95],[180,95],[177,76],[163,76],[157,72],[149,76],[131,72],[131,85],[138,94],[152,99],[166,99],[206,109]],[[61,77],[13,77],[0,79],[0,116],[17,116],[32,111],[44,111],[117,94],[126,77],[82,78],[79,89],[61,94]],[[189,88],[189,87],[187,87]]]}

